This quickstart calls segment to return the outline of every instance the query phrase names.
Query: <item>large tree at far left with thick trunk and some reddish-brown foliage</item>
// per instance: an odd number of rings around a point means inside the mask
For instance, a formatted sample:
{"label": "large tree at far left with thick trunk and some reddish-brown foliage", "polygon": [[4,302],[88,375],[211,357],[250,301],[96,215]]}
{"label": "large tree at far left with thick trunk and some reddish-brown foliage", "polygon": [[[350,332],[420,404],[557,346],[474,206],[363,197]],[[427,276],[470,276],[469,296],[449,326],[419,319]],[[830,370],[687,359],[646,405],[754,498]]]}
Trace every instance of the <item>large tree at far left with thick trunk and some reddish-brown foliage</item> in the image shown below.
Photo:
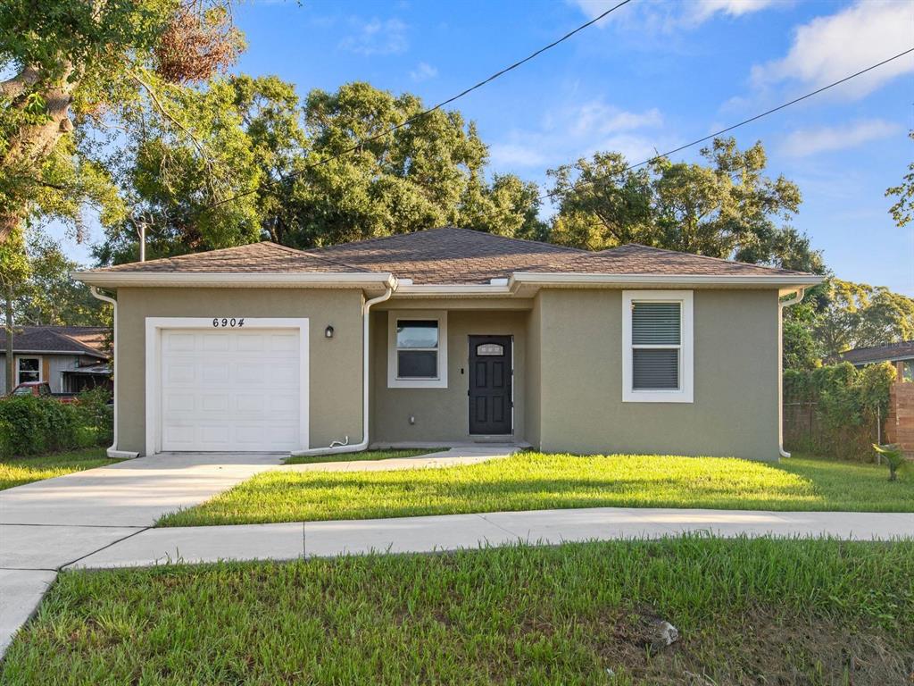
{"label": "large tree at far left with thick trunk and some reddish-brown foliage", "polygon": [[[0,274],[6,359],[12,301],[27,276],[27,222],[75,228],[94,205],[112,223],[128,208],[112,179],[124,121],[155,108],[193,142],[163,94],[207,80],[241,47],[220,0],[5,0],[0,3]],[[212,155],[201,145],[196,154]],[[204,173],[215,178],[216,165]],[[9,375],[7,375],[7,379]]]}

